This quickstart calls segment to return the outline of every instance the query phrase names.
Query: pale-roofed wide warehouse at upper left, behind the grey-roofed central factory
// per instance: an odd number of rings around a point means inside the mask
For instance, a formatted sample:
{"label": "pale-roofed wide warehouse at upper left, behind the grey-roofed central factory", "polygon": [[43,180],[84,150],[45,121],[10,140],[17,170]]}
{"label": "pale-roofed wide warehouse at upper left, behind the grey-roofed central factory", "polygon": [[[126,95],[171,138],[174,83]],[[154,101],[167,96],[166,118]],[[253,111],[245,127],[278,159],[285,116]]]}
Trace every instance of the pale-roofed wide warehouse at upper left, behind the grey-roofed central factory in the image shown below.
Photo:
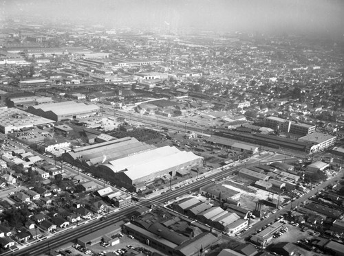
{"label": "pale-roofed wide warehouse at upper left, behind the grey-roofed central factory", "polygon": [[28,108],[28,112],[54,121],[94,115],[99,110],[100,108],[94,104],[87,105],[73,101],[29,106]]}

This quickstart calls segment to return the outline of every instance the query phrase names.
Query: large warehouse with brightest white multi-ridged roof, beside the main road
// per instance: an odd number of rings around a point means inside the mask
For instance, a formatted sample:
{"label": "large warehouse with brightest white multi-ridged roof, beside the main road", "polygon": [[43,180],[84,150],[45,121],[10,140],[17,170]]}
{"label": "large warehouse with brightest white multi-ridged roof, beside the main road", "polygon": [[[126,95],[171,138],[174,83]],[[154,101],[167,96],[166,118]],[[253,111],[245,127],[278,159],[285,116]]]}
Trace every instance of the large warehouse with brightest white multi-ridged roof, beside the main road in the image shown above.
{"label": "large warehouse with brightest white multi-ridged roof, beside the main road", "polygon": [[137,190],[161,176],[174,176],[179,170],[188,170],[202,164],[203,158],[193,152],[164,146],[100,165],[102,176],[122,187]]}

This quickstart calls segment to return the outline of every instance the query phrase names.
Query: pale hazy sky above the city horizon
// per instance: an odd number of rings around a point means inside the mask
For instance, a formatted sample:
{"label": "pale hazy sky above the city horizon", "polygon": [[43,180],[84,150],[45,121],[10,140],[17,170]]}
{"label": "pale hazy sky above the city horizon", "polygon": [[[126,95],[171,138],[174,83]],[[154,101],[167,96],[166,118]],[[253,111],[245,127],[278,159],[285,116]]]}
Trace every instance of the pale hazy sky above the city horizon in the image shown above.
{"label": "pale hazy sky above the city horizon", "polygon": [[2,11],[114,27],[344,34],[343,0],[3,0]]}

